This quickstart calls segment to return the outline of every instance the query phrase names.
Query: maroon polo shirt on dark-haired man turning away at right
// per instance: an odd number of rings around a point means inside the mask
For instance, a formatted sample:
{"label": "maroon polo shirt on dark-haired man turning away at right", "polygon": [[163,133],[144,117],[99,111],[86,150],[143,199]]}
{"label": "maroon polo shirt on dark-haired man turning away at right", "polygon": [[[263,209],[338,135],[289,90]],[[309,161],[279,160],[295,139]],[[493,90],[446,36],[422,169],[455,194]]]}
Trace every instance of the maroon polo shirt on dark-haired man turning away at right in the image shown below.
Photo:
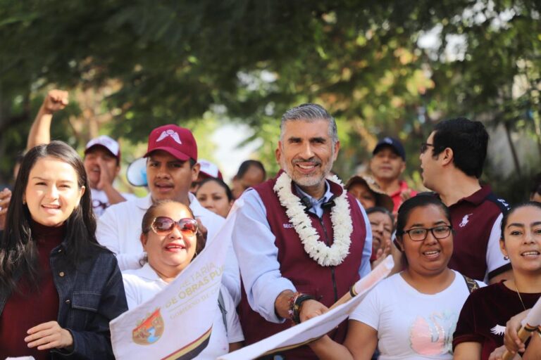
{"label": "maroon polo shirt on dark-haired man turning away at right", "polygon": [[[499,224],[496,224],[507,207],[505,200],[497,198],[487,185],[449,206],[454,230],[451,269],[478,281],[486,281],[485,275],[490,279],[511,269],[499,251]],[[492,233],[493,228],[497,233]],[[490,264],[487,264],[487,252]]]}

